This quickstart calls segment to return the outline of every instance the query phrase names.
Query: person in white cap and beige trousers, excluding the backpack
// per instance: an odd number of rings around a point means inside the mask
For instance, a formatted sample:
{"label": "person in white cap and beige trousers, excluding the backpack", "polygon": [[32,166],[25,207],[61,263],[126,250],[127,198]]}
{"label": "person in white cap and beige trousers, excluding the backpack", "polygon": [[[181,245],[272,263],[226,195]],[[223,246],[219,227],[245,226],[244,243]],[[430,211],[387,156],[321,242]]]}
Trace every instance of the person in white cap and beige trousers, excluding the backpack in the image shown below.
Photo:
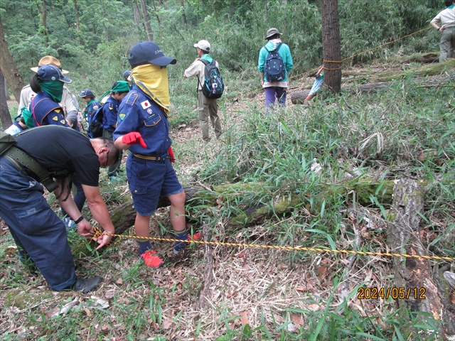
{"label": "person in white cap and beige trousers, excluding the backpack", "polygon": [[[208,135],[208,118],[212,123],[213,129],[215,130],[215,136],[218,139],[223,133],[221,131],[220,117],[218,117],[218,99],[210,99],[204,96],[202,92],[202,84],[205,77],[205,64],[201,60],[207,60],[208,63],[212,63],[213,58],[210,57],[210,43],[207,40],[199,40],[198,43],[193,45],[198,53],[198,58],[185,70],[183,73],[184,78],[197,76],[198,77],[198,113],[199,113],[199,124],[202,129],[202,139],[204,141],[210,141]],[[215,61],[218,69],[220,66]]]}

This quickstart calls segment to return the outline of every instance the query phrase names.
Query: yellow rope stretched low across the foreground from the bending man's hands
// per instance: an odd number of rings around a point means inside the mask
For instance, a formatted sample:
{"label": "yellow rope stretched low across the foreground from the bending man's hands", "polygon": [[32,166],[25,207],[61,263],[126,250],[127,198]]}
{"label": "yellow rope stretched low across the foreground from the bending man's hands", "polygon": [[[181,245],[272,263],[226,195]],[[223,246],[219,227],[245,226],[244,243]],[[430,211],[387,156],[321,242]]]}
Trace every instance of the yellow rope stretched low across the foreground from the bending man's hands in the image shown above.
{"label": "yellow rope stretched low across the foreground from the bending man's hands", "polygon": [[[98,237],[101,232],[100,229],[94,227],[95,237]],[[335,254],[360,254],[363,256],[387,256],[387,257],[404,257],[404,258],[417,258],[417,259],[433,259],[437,261],[455,261],[455,258],[452,257],[439,257],[439,256],[419,256],[417,254],[390,254],[385,252],[368,252],[368,251],[353,251],[353,250],[336,250],[336,249],[319,249],[314,247],[280,247],[277,245],[259,245],[259,244],[242,244],[242,243],[226,243],[226,242],[204,242],[200,240],[187,240],[182,241],[180,239],[172,238],[159,238],[159,237],[137,237],[134,235],[128,234],[109,234],[105,233],[107,236],[118,237],[118,238],[133,238],[133,239],[148,239],[155,240],[160,242],[186,242],[190,244],[204,244],[204,245],[221,245],[224,247],[249,247],[255,249],[277,249],[277,250],[286,250],[286,251],[313,251],[313,252],[328,252]]]}

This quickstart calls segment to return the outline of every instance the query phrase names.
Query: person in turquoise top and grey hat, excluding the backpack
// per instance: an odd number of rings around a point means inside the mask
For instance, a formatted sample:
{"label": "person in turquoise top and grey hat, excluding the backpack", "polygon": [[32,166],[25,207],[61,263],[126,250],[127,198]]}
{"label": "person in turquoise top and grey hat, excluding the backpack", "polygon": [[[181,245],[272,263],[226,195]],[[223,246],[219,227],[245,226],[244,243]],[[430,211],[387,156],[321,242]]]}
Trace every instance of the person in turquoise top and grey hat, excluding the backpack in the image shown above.
{"label": "person in turquoise top and grey hat, excluding the backpack", "polygon": [[[286,104],[286,93],[287,88],[289,87],[288,76],[294,66],[292,63],[291,50],[289,50],[288,45],[282,43],[280,36],[282,36],[282,33],[279,33],[277,28],[269,28],[269,30],[267,30],[267,35],[265,36],[265,40],[268,40],[267,44],[259,51],[257,68],[259,69],[259,75],[261,77],[261,85],[265,90],[265,107],[267,109],[272,109],[276,100],[278,100],[278,104],[281,107],[284,107]],[[286,67],[286,73],[284,75],[284,80],[269,82],[264,75],[265,60],[267,60],[269,52],[277,48],[279,43],[282,43],[282,46],[279,48],[278,53],[282,57],[284,66]]]}

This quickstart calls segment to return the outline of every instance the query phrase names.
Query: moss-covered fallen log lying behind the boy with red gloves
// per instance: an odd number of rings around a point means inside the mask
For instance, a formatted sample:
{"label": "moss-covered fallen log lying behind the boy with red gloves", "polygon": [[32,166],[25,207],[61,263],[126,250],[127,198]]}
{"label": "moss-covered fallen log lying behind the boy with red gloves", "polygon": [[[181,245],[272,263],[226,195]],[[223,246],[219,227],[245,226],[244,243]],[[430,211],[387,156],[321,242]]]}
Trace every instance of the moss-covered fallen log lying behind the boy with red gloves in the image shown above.
{"label": "moss-covered fallen log lying behind the boy with red gloves", "polygon": [[[237,200],[239,208],[228,221],[228,227],[239,228],[252,224],[261,224],[267,217],[272,215],[282,216],[289,214],[300,205],[307,205],[309,198],[305,195],[287,195],[278,198],[271,198],[267,203],[255,202],[250,198],[252,193],[268,193],[269,188],[264,183],[228,183],[206,189],[201,185],[183,186],[186,194],[186,204],[190,206],[206,205],[213,207],[218,202],[226,200]],[[370,197],[378,198],[378,202],[387,205],[392,202],[393,181],[387,180],[379,183],[371,183],[369,180],[355,180],[343,183],[338,186],[323,187],[321,192],[313,198],[313,206],[309,207],[312,212],[319,212],[322,203],[337,200],[338,197],[354,197],[360,205],[372,205]],[[355,193],[355,195],[353,195]],[[167,197],[161,198],[158,207],[171,205]],[[112,222],[115,227],[115,234],[123,234],[129,227],[134,225],[136,210],[132,200],[114,207],[110,210]],[[115,238],[114,238],[115,239]],[[95,246],[95,244],[93,244]],[[86,244],[82,243],[73,248],[76,258],[83,254],[90,253]]]}

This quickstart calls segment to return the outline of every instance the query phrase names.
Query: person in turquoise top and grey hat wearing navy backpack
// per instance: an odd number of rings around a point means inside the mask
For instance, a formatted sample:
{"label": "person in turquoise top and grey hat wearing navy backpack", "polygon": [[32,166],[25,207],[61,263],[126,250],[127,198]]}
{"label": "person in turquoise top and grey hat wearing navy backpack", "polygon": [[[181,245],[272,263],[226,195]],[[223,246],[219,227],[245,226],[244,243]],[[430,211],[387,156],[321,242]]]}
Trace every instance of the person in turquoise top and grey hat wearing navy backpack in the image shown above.
{"label": "person in turquoise top and grey hat wearing navy backpack", "polygon": [[261,85],[265,90],[265,107],[267,110],[274,107],[278,100],[280,107],[286,104],[286,92],[289,87],[289,72],[292,63],[291,50],[282,42],[277,28],[269,28],[265,44],[259,51],[257,68],[261,77]]}

